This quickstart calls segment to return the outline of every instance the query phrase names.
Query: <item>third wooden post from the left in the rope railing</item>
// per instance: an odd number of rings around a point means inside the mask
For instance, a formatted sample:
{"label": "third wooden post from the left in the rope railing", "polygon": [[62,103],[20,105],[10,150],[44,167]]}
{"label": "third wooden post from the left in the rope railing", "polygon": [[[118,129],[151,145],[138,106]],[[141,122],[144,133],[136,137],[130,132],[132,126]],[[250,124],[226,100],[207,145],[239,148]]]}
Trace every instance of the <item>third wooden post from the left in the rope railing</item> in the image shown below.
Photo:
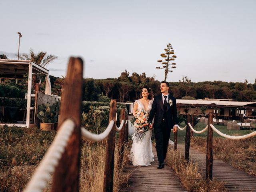
{"label": "third wooden post from the left in the rope railing", "polygon": [[124,142],[126,139],[126,125],[125,125],[125,109],[122,109],[121,114],[120,114],[120,124],[124,120],[124,124],[122,129],[119,132],[119,140],[118,140],[118,150],[119,150],[119,164],[122,163],[123,157],[124,157]]}

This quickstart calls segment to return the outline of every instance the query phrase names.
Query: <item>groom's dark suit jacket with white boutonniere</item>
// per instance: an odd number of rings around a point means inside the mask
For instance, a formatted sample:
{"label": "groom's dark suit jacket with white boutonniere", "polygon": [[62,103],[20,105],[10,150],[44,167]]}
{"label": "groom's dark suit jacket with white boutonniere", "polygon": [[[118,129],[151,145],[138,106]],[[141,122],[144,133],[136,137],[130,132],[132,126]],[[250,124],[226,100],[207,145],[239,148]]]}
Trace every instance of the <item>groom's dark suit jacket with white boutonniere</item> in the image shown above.
{"label": "groom's dark suit jacket with white boutonniere", "polygon": [[[168,103],[170,99],[172,100],[172,106],[170,106],[170,104]],[[168,123],[168,127],[172,129],[175,124],[178,124],[176,99],[173,96],[170,96],[169,94],[166,100],[167,100],[167,111],[166,111],[167,123]],[[160,94],[154,98],[148,121],[152,122],[153,118],[155,117],[154,128],[157,129],[162,123],[163,116],[164,116],[164,105],[163,105],[162,94]]]}

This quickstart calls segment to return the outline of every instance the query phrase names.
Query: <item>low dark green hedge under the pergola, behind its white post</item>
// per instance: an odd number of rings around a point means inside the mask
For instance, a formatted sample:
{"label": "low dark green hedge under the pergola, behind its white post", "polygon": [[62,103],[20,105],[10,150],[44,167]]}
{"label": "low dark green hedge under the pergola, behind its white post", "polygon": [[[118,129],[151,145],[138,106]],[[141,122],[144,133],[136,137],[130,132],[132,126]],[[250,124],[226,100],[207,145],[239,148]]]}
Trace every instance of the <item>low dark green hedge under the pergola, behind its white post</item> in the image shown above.
{"label": "low dark green hedge under the pergola, behind its white post", "polygon": [[[31,106],[34,104],[35,104],[35,99],[31,98]],[[0,106],[18,107],[20,109],[26,109],[27,99],[0,97]]]}

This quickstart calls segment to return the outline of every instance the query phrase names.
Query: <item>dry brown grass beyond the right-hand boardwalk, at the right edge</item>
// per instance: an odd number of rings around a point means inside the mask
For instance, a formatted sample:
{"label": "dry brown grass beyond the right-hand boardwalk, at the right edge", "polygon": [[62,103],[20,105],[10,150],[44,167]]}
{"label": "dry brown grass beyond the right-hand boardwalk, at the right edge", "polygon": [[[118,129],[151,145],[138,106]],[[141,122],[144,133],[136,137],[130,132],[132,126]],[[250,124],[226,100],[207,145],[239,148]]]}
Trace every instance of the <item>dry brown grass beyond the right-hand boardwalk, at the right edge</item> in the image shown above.
{"label": "dry brown grass beyond the right-hand boardwalk, at the right edge", "polygon": [[[194,137],[191,146],[206,152],[207,139]],[[245,140],[213,139],[213,156],[240,170],[256,176],[256,138]]]}

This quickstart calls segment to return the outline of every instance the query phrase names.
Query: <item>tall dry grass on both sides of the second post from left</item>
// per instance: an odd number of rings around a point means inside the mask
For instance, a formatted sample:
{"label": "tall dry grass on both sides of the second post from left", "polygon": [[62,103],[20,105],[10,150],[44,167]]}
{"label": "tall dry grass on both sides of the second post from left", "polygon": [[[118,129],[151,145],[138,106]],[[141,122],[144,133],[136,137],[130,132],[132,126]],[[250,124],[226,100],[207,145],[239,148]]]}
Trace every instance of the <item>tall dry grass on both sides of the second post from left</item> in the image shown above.
{"label": "tall dry grass on both sides of the second post from left", "polygon": [[[101,192],[103,190],[104,176],[104,158],[105,146],[100,143],[84,143],[81,155],[80,172],[80,191],[82,192]],[[114,186],[113,191],[118,191],[120,184],[126,180],[124,168],[128,161],[127,145],[124,147],[124,158],[121,164],[118,164],[120,158],[117,146],[115,147],[114,160]]]}

